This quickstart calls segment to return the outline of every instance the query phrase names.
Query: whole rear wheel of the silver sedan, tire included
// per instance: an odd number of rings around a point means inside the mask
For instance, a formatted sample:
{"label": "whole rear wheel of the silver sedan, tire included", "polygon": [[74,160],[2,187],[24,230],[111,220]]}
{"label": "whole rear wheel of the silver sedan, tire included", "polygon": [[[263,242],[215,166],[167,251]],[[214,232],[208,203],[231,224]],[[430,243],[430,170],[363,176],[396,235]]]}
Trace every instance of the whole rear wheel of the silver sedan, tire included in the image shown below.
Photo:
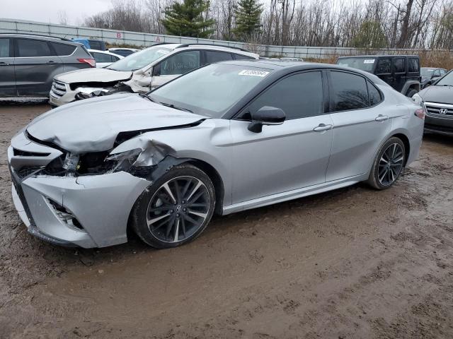
{"label": "whole rear wheel of the silver sedan, tire included", "polygon": [[406,148],[400,138],[392,137],[382,145],[369,173],[368,184],[374,189],[388,189],[401,174]]}

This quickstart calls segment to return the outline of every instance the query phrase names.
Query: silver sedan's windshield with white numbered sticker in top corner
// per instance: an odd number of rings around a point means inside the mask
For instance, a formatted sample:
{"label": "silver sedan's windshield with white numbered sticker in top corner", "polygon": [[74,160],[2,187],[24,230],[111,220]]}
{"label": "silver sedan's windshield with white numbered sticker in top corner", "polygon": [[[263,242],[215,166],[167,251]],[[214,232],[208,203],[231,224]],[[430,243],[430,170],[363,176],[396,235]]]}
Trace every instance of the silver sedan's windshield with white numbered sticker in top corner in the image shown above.
{"label": "silver sedan's windshield with white numbered sticker in top corner", "polygon": [[250,66],[211,64],[167,83],[149,97],[163,105],[219,118],[269,73]]}

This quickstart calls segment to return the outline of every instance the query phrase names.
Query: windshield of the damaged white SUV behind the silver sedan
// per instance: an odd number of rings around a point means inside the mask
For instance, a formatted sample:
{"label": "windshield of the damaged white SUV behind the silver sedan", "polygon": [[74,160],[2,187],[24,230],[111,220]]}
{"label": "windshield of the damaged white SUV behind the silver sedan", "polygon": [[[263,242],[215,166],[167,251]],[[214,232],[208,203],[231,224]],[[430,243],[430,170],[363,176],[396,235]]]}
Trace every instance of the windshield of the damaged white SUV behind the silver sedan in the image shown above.
{"label": "windshield of the damaged white SUV behind the silver sedan", "polygon": [[165,54],[171,52],[171,49],[164,47],[149,47],[143,49],[140,52],[135,52],[116,61],[107,67],[107,69],[113,69],[114,71],[137,71],[137,69],[142,69],[144,66],[148,66],[154,60],[163,57]]}

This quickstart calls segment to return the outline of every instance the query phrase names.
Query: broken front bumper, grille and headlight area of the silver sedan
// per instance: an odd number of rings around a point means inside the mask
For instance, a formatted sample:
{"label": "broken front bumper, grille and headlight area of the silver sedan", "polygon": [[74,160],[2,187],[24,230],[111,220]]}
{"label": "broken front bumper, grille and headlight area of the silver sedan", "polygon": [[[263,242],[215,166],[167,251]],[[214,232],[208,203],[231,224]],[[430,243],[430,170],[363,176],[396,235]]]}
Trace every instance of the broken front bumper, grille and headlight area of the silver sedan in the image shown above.
{"label": "broken front bumper, grille and headlight area of the silver sedan", "polygon": [[31,234],[84,248],[127,242],[139,195],[185,160],[142,136],[117,143],[107,151],[74,153],[26,131],[13,138],[8,148],[13,201]]}

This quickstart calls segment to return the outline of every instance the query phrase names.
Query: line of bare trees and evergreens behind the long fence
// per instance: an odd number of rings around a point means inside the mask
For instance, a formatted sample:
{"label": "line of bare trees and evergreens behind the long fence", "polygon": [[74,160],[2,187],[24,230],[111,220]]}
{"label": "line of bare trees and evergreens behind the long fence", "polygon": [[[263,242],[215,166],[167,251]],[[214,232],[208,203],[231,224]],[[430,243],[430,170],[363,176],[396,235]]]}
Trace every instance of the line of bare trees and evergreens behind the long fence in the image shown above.
{"label": "line of bare trees and evergreens behind the long fence", "polygon": [[453,0],[113,0],[84,25],[250,44],[453,49]]}

